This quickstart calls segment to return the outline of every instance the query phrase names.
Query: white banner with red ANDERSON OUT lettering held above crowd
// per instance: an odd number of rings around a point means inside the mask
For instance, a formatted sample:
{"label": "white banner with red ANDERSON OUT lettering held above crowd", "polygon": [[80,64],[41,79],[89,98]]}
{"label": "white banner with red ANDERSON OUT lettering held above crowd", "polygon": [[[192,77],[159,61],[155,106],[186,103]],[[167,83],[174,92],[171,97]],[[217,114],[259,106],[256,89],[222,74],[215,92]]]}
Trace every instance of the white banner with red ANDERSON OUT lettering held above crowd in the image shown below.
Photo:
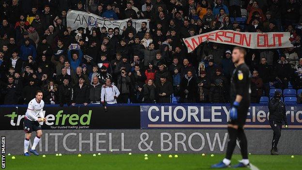
{"label": "white banner with red ANDERSON OUT lettering held above crowd", "polygon": [[289,41],[289,32],[238,32],[232,30],[211,31],[193,37],[184,38],[183,41],[192,52],[202,42],[242,46],[253,49],[287,48],[292,47]]}

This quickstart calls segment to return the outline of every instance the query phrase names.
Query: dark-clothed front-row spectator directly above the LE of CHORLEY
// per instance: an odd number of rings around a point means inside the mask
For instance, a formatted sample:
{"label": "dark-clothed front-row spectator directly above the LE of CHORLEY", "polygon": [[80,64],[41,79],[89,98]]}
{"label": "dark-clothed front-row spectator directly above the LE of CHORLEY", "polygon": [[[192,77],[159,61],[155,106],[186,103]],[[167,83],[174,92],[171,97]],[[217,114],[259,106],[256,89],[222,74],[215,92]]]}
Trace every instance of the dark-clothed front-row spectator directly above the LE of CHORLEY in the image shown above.
{"label": "dark-clothed front-row spectator directly above the LE of CHORLEY", "polygon": [[210,79],[206,76],[206,71],[201,70],[197,79],[197,103],[208,103],[211,88]]}

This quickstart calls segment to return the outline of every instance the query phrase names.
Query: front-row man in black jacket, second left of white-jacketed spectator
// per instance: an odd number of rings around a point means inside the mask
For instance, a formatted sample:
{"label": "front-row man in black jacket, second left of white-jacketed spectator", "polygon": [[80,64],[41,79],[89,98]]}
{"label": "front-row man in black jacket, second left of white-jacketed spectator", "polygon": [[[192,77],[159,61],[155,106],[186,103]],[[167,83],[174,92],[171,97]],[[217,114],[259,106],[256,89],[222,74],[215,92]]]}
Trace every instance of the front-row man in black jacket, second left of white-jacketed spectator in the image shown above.
{"label": "front-row man in black jacket, second left of white-jacketed spectator", "polygon": [[87,78],[78,77],[78,84],[76,84],[72,91],[71,105],[83,104],[87,106],[89,103],[89,86],[84,83]]}

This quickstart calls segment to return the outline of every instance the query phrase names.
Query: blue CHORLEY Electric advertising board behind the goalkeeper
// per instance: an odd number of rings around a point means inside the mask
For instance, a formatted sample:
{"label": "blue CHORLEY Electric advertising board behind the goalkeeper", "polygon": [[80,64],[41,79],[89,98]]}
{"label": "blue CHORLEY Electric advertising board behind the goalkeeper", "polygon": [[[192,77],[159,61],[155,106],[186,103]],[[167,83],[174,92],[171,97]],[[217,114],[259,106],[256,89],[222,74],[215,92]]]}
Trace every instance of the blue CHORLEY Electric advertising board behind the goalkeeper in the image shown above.
{"label": "blue CHORLEY Electric advertising board behind the goalkeeper", "polygon": [[[287,129],[302,129],[302,107],[287,106]],[[227,127],[229,105],[153,105],[140,107],[142,129],[221,129]],[[247,129],[270,129],[268,106],[251,106]]]}

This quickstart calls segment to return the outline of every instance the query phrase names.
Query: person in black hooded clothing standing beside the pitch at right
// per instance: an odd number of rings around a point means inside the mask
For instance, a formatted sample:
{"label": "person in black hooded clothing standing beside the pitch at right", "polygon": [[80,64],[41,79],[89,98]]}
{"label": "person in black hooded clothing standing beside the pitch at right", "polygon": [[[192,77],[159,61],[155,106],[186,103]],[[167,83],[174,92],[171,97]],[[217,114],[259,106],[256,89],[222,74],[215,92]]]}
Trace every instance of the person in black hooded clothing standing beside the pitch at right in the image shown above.
{"label": "person in black hooded clothing standing beside the pitch at right", "polygon": [[273,130],[271,155],[279,155],[277,145],[281,137],[282,122],[288,127],[285,104],[281,101],[281,96],[281,92],[276,91],[269,103],[269,121]]}

